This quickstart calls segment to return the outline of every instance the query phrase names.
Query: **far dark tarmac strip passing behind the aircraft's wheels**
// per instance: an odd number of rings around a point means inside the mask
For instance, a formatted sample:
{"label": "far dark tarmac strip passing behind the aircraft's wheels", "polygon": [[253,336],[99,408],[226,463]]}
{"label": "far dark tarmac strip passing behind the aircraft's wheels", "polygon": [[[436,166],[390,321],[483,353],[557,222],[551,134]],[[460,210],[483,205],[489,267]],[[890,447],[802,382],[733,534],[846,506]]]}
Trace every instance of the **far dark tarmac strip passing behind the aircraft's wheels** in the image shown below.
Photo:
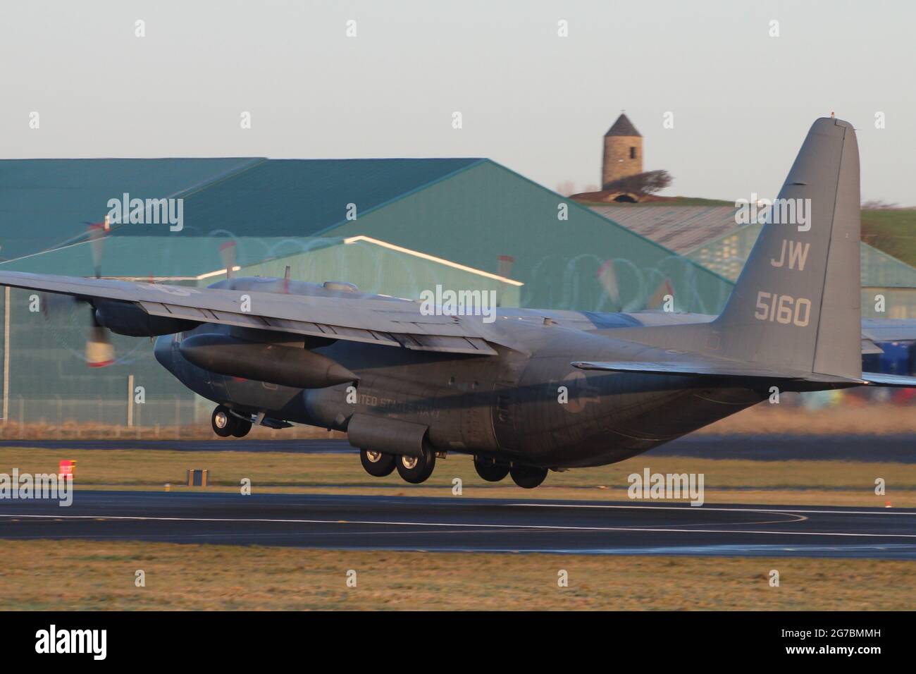
{"label": "far dark tarmac strip passing behind the aircraft's wheels", "polygon": [[[356,450],[346,440],[4,440],[0,447],[49,449],[169,449],[172,451],[288,452],[349,454]],[[839,459],[916,463],[916,435],[888,436],[685,436],[652,449],[649,457],[679,456],[699,459]]]}

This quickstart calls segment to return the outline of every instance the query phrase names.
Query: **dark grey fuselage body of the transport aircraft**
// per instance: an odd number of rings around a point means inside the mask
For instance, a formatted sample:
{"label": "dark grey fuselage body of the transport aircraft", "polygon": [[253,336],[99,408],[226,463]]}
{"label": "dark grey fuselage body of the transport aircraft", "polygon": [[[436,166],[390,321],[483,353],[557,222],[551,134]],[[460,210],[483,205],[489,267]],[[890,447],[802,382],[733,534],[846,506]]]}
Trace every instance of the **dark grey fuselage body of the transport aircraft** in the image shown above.
{"label": "dark grey fuselage body of the transport aircraft", "polygon": [[[497,348],[496,356],[349,341],[319,346],[316,353],[359,378],[326,388],[297,389],[202,370],[182,357],[182,335],[158,337],[156,356],[191,390],[238,414],[337,430],[360,414],[382,433],[394,420],[426,426],[425,441],[435,451],[542,468],[627,459],[767,395],[714,384],[698,388],[686,377],[577,370],[575,359],[618,359],[632,345],[608,337],[612,331],[532,325],[518,314],[502,317],[518,347]],[[226,332],[226,326],[203,325],[185,335]]]}

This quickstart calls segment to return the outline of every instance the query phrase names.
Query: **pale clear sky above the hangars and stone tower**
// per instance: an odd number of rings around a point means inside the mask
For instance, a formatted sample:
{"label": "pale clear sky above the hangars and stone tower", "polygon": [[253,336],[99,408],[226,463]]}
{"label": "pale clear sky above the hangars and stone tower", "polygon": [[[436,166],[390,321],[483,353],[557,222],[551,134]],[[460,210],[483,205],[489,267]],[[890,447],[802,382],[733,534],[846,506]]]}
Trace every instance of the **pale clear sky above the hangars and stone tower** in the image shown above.
{"label": "pale clear sky above the hangars and stone tower", "polygon": [[835,111],[863,199],[912,205],[913,26],[907,0],[14,0],[0,157],[489,157],[581,190],[626,109],[666,193],[735,199],[775,195]]}

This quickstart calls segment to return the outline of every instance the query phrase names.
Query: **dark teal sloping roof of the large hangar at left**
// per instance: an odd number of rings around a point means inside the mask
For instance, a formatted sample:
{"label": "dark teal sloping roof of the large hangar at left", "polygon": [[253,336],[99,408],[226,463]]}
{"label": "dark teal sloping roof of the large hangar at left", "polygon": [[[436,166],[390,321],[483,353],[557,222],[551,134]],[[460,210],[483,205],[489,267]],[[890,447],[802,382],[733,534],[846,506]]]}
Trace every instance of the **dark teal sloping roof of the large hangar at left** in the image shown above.
{"label": "dark teal sloping roof of the large hangar at left", "polygon": [[[311,236],[357,213],[461,171],[479,159],[0,160],[0,258],[84,238],[110,199],[181,197],[185,236]],[[114,236],[165,236],[161,225],[114,227]]]}

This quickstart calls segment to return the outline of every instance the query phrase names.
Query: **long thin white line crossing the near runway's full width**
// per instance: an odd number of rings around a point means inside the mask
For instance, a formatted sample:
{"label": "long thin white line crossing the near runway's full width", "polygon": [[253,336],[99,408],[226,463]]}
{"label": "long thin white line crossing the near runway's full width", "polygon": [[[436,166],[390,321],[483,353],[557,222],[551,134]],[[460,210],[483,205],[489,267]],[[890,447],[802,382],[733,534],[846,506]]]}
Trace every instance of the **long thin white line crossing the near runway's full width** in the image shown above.
{"label": "long thin white line crossing the near runway's full width", "polygon": [[[603,506],[602,506],[603,507]],[[615,507],[615,506],[612,506]],[[627,507],[627,506],[619,506]],[[651,507],[651,506],[648,506]],[[726,509],[731,510],[731,509]],[[770,511],[763,511],[770,512]],[[811,512],[811,511],[807,511]],[[828,511],[833,512],[833,511]],[[380,526],[453,526],[456,528],[482,529],[525,529],[543,531],[630,531],[656,532],[667,534],[753,534],[766,536],[846,536],[867,538],[916,538],[916,534],[854,534],[845,532],[821,531],[760,531],[743,529],[671,529],[641,528],[636,526],[569,526],[569,525],[493,525],[456,522],[389,522],[386,520],[307,520],[307,519],[265,519],[234,517],[144,517],[139,515],[60,515],[60,514],[0,514],[7,519],[49,519],[49,520],[129,520],[136,522],[253,522],[261,524],[301,524],[301,525],[380,525]],[[684,525],[688,526],[688,525]]]}

